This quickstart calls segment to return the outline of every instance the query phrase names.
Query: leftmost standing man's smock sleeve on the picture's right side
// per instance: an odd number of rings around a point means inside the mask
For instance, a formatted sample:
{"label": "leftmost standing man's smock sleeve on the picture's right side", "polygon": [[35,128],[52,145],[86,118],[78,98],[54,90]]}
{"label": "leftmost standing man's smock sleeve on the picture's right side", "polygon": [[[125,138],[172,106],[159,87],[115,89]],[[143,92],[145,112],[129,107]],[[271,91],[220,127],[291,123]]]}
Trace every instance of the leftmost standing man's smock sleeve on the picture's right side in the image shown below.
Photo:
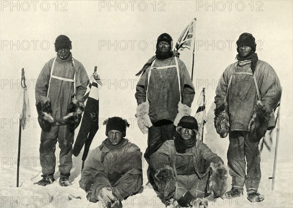
{"label": "leftmost standing man's smock sleeve on the picture's right side", "polygon": [[89,83],[89,79],[85,68],[81,62],[79,62],[79,69],[76,73],[76,100],[81,103],[84,103],[84,94],[86,92],[86,86]]}

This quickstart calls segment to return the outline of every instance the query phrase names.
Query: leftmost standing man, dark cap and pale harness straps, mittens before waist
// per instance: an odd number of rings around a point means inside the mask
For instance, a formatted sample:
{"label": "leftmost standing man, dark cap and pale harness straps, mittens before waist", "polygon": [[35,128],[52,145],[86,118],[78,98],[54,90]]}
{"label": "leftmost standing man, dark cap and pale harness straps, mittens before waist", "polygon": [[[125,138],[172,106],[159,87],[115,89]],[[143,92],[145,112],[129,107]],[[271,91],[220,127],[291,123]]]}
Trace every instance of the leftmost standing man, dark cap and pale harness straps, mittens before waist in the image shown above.
{"label": "leftmost standing man, dark cap and pale harness straps, mittens before waist", "polygon": [[60,186],[70,186],[72,144],[74,129],[79,125],[84,111],[84,93],[89,83],[81,62],[72,58],[71,41],[60,35],[55,41],[57,55],[45,63],[36,83],[38,122],[42,128],[40,162],[42,180],[40,186],[54,180],[56,143],[59,142]]}

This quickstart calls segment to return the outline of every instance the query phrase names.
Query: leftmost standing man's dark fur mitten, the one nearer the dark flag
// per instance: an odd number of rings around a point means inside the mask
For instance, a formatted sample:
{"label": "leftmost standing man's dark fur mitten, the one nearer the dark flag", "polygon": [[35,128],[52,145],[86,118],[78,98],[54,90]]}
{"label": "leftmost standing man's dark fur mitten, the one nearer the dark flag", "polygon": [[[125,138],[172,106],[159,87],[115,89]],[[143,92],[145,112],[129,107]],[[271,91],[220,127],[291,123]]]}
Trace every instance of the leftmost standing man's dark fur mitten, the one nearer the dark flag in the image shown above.
{"label": "leftmost standing man's dark fur mitten, the one nearer the dark flag", "polygon": [[74,131],[74,129],[76,129],[81,123],[83,112],[84,104],[73,98],[69,104],[68,114],[62,118],[69,131]]}

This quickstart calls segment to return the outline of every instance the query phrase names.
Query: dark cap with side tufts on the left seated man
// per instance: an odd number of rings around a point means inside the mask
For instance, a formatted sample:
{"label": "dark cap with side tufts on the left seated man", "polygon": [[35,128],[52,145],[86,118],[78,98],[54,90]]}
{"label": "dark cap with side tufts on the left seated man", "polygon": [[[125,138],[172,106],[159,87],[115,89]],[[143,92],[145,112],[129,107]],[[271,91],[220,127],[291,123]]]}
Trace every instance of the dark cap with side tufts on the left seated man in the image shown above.
{"label": "dark cap with side tufts on the left seated man", "polygon": [[108,132],[111,130],[121,131],[123,137],[126,136],[126,127],[129,127],[129,124],[126,119],[122,119],[121,117],[111,117],[106,119],[103,122],[103,125],[106,125],[106,136],[108,136]]}

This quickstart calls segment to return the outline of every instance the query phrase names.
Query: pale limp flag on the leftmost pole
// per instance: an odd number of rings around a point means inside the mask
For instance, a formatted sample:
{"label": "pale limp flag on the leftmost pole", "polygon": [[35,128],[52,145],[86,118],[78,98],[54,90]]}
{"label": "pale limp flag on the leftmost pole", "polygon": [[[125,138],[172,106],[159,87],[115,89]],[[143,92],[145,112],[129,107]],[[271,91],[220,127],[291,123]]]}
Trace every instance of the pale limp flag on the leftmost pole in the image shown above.
{"label": "pale limp flag on the leftmost pole", "polygon": [[21,69],[21,91],[17,99],[15,109],[19,115],[21,127],[24,129],[27,127],[26,125],[28,124],[31,116],[27,86],[25,84],[24,68]]}

